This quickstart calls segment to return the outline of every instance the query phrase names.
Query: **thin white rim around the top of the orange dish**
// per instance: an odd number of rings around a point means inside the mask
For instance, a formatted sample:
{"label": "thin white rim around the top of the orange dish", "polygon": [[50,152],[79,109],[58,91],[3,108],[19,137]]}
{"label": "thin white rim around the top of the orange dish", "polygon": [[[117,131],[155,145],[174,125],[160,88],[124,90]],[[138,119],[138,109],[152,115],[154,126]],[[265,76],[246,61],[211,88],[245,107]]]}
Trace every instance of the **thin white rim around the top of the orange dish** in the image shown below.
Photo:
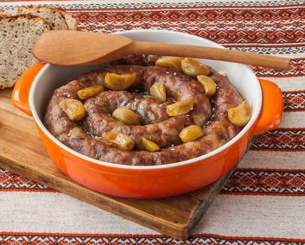
{"label": "thin white rim around the top of the orange dish", "polygon": [[[126,31],[123,31],[123,32],[116,32],[116,33],[113,33],[115,35],[120,35],[120,34],[126,34],[126,33],[138,33],[138,32],[155,32],[155,33],[175,33],[175,34],[179,34],[181,36],[186,36],[186,37],[191,37],[191,38],[195,38],[195,39],[198,39],[198,40],[201,40],[203,38],[200,38],[200,37],[197,37],[197,36],[193,36],[193,35],[190,35],[190,34],[185,34],[185,33],[179,33],[179,32],[174,32],[174,31],[171,31],[171,30],[126,30]],[[217,44],[215,42],[212,42],[212,41],[209,41],[209,40],[206,40],[206,39],[203,39],[205,42],[211,44],[212,46],[214,47],[218,47],[218,48],[224,48],[223,46],[221,46],[220,44]],[[245,126],[245,128],[243,128],[240,133],[238,135],[236,135],[232,140],[230,140],[228,143],[224,144],[223,146],[221,146],[220,148],[214,150],[214,151],[211,151],[209,152],[208,154],[206,155],[203,155],[201,157],[198,157],[198,158],[193,158],[193,159],[190,159],[190,160],[187,160],[187,161],[182,161],[182,162],[178,162],[178,163],[171,163],[171,164],[166,164],[166,165],[153,165],[153,166],[132,166],[132,165],[120,165],[120,164],[116,164],[116,163],[107,163],[107,162],[103,162],[103,161],[100,161],[100,160],[96,160],[96,159],[93,159],[93,158],[89,158],[87,156],[84,156],[82,154],[80,154],[79,152],[77,151],[74,151],[72,150],[71,148],[69,148],[68,146],[64,145],[62,142],[60,142],[59,140],[57,140],[44,126],[44,124],[42,123],[42,121],[40,120],[39,116],[38,116],[38,113],[36,111],[36,108],[33,108],[32,105],[35,105],[34,104],[34,91],[35,91],[35,87],[36,87],[36,84],[37,84],[37,81],[40,79],[41,77],[41,74],[43,74],[43,72],[48,69],[48,67],[51,66],[50,64],[47,64],[46,66],[44,66],[44,68],[41,69],[41,71],[37,74],[36,78],[34,79],[34,82],[31,86],[31,90],[29,92],[29,106],[32,110],[32,114],[33,114],[33,117],[37,123],[37,125],[43,130],[43,132],[54,142],[56,143],[58,146],[64,148],[65,150],[69,151],[71,154],[75,155],[76,157],[79,157],[83,160],[86,160],[86,161],[89,161],[89,162],[92,162],[92,163],[96,163],[96,164],[99,164],[99,165],[105,165],[105,166],[108,166],[108,167],[113,167],[113,168],[120,168],[120,169],[132,169],[132,170],[154,170],[154,169],[166,169],[166,168],[174,168],[174,167],[178,167],[178,166],[183,166],[183,165],[187,165],[187,164],[191,164],[191,163],[194,163],[194,162],[197,162],[197,161],[201,161],[201,160],[204,160],[206,158],[209,158],[211,156],[214,156],[214,155],[217,155],[219,154],[221,151],[223,151],[224,149],[230,147],[233,143],[235,143],[236,141],[238,141],[241,136],[243,136],[243,134],[245,134],[251,127],[252,125],[256,122],[258,116],[259,116],[259,113],[260,113],[260,110],[261,110],[261,106],[262,106],[262,91],[261,91],[261,86],[260,86],[260,83],[257,79],[257,77],[255,76],[255,74],[253,73],[253,71],[251,70],[251,68],[247,65],[241,65],[240,66],[243,66],[243,68],[247,69],[252,78],[254,80],[257,81],[257,91],[258,93],[256,94],[257,96],[257,107],[256,109],[253,111],[253,114],[252,114],[252,117],[249,121],[249,123]],[[260,106],[259,106],[260,105]],[[208,164],[208,163],[207,163]],[[206,165],[207,165],[206,164]]]}

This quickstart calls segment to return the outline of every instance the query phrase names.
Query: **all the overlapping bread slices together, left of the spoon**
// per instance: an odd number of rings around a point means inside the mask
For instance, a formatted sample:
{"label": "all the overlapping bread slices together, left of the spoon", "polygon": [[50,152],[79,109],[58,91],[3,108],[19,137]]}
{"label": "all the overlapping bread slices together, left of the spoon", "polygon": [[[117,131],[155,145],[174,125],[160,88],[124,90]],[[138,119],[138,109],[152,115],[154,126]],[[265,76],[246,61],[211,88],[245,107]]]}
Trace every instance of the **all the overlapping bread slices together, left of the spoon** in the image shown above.
{"label": "all the overlapping bread slices together, left of the spoon", "polygon": [[64,9],[32,5],[0,11],[0,88],[12,87],[29,67],[40,63],[32,55],[35,40],[47,30],[77,30]]}

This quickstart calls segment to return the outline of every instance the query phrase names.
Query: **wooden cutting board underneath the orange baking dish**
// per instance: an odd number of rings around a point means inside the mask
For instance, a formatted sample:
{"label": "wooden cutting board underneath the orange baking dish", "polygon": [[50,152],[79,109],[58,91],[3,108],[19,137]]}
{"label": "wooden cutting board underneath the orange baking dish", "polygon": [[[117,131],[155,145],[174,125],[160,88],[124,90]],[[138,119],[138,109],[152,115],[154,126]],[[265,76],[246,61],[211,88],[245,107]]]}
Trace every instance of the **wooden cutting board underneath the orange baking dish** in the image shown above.
{"label": "wooden cutting board underneath the orange baking dish", "polygon": [[190,236],[233,171],[200,190],[168,198],[131,199],[90,190],[53,164],[34,120],[11,105],[11,94],[12,89],[0,91],[0,167],[178,240]]}

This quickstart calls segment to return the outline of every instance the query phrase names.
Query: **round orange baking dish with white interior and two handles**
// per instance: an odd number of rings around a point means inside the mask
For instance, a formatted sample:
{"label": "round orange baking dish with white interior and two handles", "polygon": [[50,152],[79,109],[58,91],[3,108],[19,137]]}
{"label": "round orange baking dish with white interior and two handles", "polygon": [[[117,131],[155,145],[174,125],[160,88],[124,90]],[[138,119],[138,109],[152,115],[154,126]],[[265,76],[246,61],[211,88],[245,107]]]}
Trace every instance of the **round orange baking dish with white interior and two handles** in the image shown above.
{"label": "round orange baking dish with white interior and two handles", "polygon": [[[188,34],[166,30],[133,30],[116,33],[137,41],[222,46]],[[63,54],[64,55],[64,54]],[[230,142],[209,154],[184,162],[160,166],[128,166],[88,158],[56,140],[44,127],[44,111],[53,91],[79,74],[109,64],[65,67],[39,64],[27,69],[12,95],[15,107],[33,116],[45,149],[65,174],[99,192],[132,198],[179,195],[202,188],[226,174],[245,154],[253,136],[277,128],[283,115],[281,89],[273,82],[258,80],[246,65],[201,60],[226,72],[243,99],[253,108],[252,118]],[[262,152],[263,154],[263,152]]]}

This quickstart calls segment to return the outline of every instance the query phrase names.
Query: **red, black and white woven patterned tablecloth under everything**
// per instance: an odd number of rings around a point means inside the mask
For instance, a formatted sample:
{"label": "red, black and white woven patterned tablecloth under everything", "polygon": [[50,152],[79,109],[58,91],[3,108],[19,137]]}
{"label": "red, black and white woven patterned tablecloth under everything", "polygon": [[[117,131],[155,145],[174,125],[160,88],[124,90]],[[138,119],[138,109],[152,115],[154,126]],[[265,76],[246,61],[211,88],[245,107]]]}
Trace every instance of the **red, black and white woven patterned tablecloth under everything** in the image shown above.
{"label": "red, black and white woven patterned tablecloth under everything", "polygon": [[176,30],[236,50],[289,57],[290,71],[253,67],[283,90],[280,128],[257,137],[185,242],[0,170],[0,244],[305,244],[305,1],[146,2],[0,0],[0,9],[63,7],[81,30]]}

